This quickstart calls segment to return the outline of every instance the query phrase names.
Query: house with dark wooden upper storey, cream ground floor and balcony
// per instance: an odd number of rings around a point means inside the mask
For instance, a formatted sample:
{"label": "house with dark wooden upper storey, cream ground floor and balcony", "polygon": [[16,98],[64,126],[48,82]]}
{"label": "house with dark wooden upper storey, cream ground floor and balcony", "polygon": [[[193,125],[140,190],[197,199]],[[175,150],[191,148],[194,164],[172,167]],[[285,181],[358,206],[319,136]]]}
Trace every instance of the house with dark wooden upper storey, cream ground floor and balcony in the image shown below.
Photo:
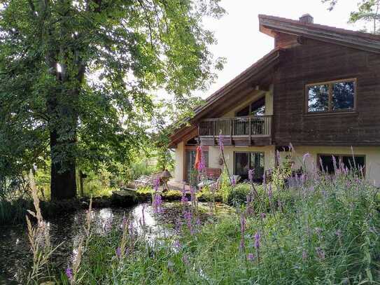
{"label": "house with dark wooden upper storey, cream ground floor and balcony", "polygon": [[380,36],[316,25],[309,14],[259,20],[274,49],[206,99],[188,125],[171,135],[176,181],[189,180],[197,144],[206,167],[222,167],[221,134],[227,167],[243,179],[254,168],[260,180],[274,167],[276,152],[284,156],[292,144],[297,167],[309,153],[307,170],[323,166],[332,172],[334,155],[347,167],[360,165],[379,185]]}

